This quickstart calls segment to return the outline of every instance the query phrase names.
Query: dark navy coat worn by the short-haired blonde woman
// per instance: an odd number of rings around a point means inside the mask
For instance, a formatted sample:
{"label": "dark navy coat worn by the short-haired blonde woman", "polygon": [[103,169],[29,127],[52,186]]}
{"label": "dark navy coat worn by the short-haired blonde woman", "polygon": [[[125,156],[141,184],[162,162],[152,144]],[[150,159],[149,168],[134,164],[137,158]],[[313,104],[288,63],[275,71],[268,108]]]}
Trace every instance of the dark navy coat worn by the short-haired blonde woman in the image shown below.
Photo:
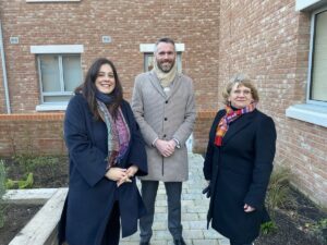
{"label": "dark navy coat worn by the short-haired blonde woman", "polygon": [[[208,223],[228,238],[251,243],[259,233],[266,189],[276,150],[276,130],[271,118],[254,110],[232,122],[222,138],[214,144],[217,125],[226,111],[220,110],[209,133],[204,175],[210,180]],[[247,204],[255,211],[246,213]]]}

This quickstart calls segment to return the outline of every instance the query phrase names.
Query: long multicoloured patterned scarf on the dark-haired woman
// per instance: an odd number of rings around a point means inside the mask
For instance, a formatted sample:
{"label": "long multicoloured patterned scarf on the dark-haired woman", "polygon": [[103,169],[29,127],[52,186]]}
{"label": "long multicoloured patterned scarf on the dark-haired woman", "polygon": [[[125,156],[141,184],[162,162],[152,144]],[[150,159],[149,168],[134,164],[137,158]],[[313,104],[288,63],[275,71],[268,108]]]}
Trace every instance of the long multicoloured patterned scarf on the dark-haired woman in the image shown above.
{"label": "long multicoloured patterned scarf on the dark-haired woman", "polygon": [[120,132],[117,130],[116,121],[113,120],[112,115],[110,114],[107,105],[112,101],[112,99],[101,93],[96,93],[97,105],[98,105],[98,112],[100,118],[104,120],[107,126],[107,134],[108,134],[108,166],[107,169],[116,166],[120,159],[123,158],[126,149],[128,144],[130,142],[130,130],[125,122],[125,119],[122,114],[121,108],[118,109],[118,121],[121,121],[124,126],[124,135],[126,137],[121,136]]}

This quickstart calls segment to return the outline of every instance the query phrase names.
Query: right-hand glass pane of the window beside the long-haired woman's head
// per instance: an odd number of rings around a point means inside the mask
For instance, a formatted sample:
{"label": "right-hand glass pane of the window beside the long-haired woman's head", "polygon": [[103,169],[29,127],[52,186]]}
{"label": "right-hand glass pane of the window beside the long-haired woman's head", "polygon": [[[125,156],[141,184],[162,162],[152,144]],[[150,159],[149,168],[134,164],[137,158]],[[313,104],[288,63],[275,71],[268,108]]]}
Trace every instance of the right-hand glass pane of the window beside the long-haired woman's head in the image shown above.
{"label": "right-hand glass pane of the window beside the long-haired woman's head", "polygon": [[80,56],[62,57],[63,83],[65,91],[73,91],[82,83]]}

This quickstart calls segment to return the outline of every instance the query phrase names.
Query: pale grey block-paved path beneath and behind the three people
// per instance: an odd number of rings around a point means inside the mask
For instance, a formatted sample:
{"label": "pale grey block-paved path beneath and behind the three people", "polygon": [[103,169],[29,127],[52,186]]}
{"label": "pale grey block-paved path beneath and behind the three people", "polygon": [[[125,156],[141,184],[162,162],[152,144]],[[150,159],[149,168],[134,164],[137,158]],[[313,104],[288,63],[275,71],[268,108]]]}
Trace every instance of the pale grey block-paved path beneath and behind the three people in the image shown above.
{"label": "pale grey block-paved path beneath and behind the three people", "polygon": [[[189,154],[190,179],[183,183],[182,192],[182,224],[183,237],[187,245],[229,245],[229,241],[219,235],[211,228],[206,229],[208,199],[202,194],[206,186],[203,177],[203,157]],[[173,245],[172,237],[167,229],[167,199],[166,191],[160,183],[156,199],[156,215],[154,222],[152,245]],[[121,245],[138,245],[140,234],[121,240]]]}

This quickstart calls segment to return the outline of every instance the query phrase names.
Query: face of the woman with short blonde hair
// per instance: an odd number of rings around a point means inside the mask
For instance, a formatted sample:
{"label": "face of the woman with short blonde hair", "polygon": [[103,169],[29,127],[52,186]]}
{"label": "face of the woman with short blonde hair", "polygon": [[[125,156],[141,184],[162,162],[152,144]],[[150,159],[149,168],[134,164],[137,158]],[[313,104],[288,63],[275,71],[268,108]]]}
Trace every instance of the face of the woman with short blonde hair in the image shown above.
{"label": "face of the woman with short blonde hair", "polygon": [[247,107],[254,101],[251,88],[242,84],[235,83],[228,97],[230,105],[237,109]]}

